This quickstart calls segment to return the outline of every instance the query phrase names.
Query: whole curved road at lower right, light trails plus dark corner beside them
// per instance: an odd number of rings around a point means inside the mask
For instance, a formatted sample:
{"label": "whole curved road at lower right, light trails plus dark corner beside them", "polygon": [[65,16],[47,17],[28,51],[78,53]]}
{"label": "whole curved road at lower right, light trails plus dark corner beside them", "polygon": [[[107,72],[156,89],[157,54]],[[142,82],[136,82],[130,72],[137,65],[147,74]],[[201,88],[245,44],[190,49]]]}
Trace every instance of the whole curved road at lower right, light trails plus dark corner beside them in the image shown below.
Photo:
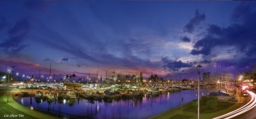
{"label": "whole curved road at lower right, light trails plus dark corner beside them", "polygon": [[220,118],[256,118],[256,94],[254,92],[248,91],[248,94],[250,95],[251,99],[250,101],[242,106],[241,108],[238,108],[234,111],[231,111],[230,113],[227,113],[225,115],[218,116],[214,119],[220,119]]}

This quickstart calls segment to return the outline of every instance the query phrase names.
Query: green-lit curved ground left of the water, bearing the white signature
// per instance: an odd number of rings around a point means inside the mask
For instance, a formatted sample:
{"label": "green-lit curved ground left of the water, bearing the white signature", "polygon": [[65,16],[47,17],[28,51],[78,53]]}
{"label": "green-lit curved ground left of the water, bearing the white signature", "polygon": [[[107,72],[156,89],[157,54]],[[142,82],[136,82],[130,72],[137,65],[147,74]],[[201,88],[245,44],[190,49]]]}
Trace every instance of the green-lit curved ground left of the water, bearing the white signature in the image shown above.
{"label": "green-lit curved ground left of the water, bearing the white signature", "polygon": [[25,113],[15,108],[12,108],[12,106],[10,106],[4,101],[4,94],[12,90],[12,88],[13,87],[0,87],[0,118],[35,118],[34,116],[26,115]]}

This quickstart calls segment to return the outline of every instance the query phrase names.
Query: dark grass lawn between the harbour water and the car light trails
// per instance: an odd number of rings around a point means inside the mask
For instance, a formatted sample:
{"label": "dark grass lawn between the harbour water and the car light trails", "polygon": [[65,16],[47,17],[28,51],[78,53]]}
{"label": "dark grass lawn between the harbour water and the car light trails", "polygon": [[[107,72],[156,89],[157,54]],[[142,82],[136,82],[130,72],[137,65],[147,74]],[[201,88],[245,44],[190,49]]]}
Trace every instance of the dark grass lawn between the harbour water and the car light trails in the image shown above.
{"label": "dark grass lawn between the harbour water and the car light trails", "polygon": [[[243,99],[243,102],[242,100]],[[200,101],[200,118],[214,118],[220,115],[223,115],[225,113],[228,113],[230,111],[234,111],[237,108],[240,108],[246,102],[248,101],[248,97],[241,97],[239,98],[239,101],[232,102],[232,101],[219,101],[216,100],[217,105],[215,108],[207,108],[206,102]],[[183,118],[191,118],[196,119],[197,118],[197,106],[195,104],[192,104],[192,102],[188,102],[187,104],[184,104],[183,106],[180,106],[178,108],[166,111],[164,113],[161,113],[159,115],[151,117],[153,119],[158,118],[177,118],[177,119],[183,119]]]}

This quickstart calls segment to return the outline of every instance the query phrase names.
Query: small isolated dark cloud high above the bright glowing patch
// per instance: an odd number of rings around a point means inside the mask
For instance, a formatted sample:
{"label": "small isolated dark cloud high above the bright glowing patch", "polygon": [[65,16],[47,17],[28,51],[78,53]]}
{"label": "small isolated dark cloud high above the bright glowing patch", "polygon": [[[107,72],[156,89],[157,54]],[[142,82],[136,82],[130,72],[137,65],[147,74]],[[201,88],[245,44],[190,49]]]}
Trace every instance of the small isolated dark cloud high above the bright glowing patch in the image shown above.
{"label": "small isolated dark cloud high above the bright glowing patch", "polygon": [[200,22],[205,20],[204,13],[200,14],[198,10],[195,11],[195,17],[189,20],[188,24],[184,27],[184,32],[193,32],[195,31],[195,26],[199,25]]}

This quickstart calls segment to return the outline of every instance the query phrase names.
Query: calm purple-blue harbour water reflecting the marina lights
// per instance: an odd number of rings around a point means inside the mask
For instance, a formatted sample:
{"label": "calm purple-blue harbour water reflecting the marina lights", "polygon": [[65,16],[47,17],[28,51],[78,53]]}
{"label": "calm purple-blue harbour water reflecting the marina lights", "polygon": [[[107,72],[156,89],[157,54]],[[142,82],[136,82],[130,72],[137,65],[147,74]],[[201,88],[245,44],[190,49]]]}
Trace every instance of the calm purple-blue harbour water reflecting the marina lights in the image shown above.
{"label": "calm purple-blue harbour water reflecting the marina lights", "polygon": [[[208,94],[209,89],[201,89]],[[196,99],[197,90],[182,90],[180,92],[166,92],[159,96],[146,95],[142,99],[121,99],[111,102],[87,101],[86,99],[47,101],[47,99],[35,99],[35,97],[20,97],[23,103],[31,104],[34,108],[42,107],[69,113],[72,115],[93,118],[149,118],[168,109],[180,106],[182,103]],[[182,102],[181,98],[184,98]]]}

